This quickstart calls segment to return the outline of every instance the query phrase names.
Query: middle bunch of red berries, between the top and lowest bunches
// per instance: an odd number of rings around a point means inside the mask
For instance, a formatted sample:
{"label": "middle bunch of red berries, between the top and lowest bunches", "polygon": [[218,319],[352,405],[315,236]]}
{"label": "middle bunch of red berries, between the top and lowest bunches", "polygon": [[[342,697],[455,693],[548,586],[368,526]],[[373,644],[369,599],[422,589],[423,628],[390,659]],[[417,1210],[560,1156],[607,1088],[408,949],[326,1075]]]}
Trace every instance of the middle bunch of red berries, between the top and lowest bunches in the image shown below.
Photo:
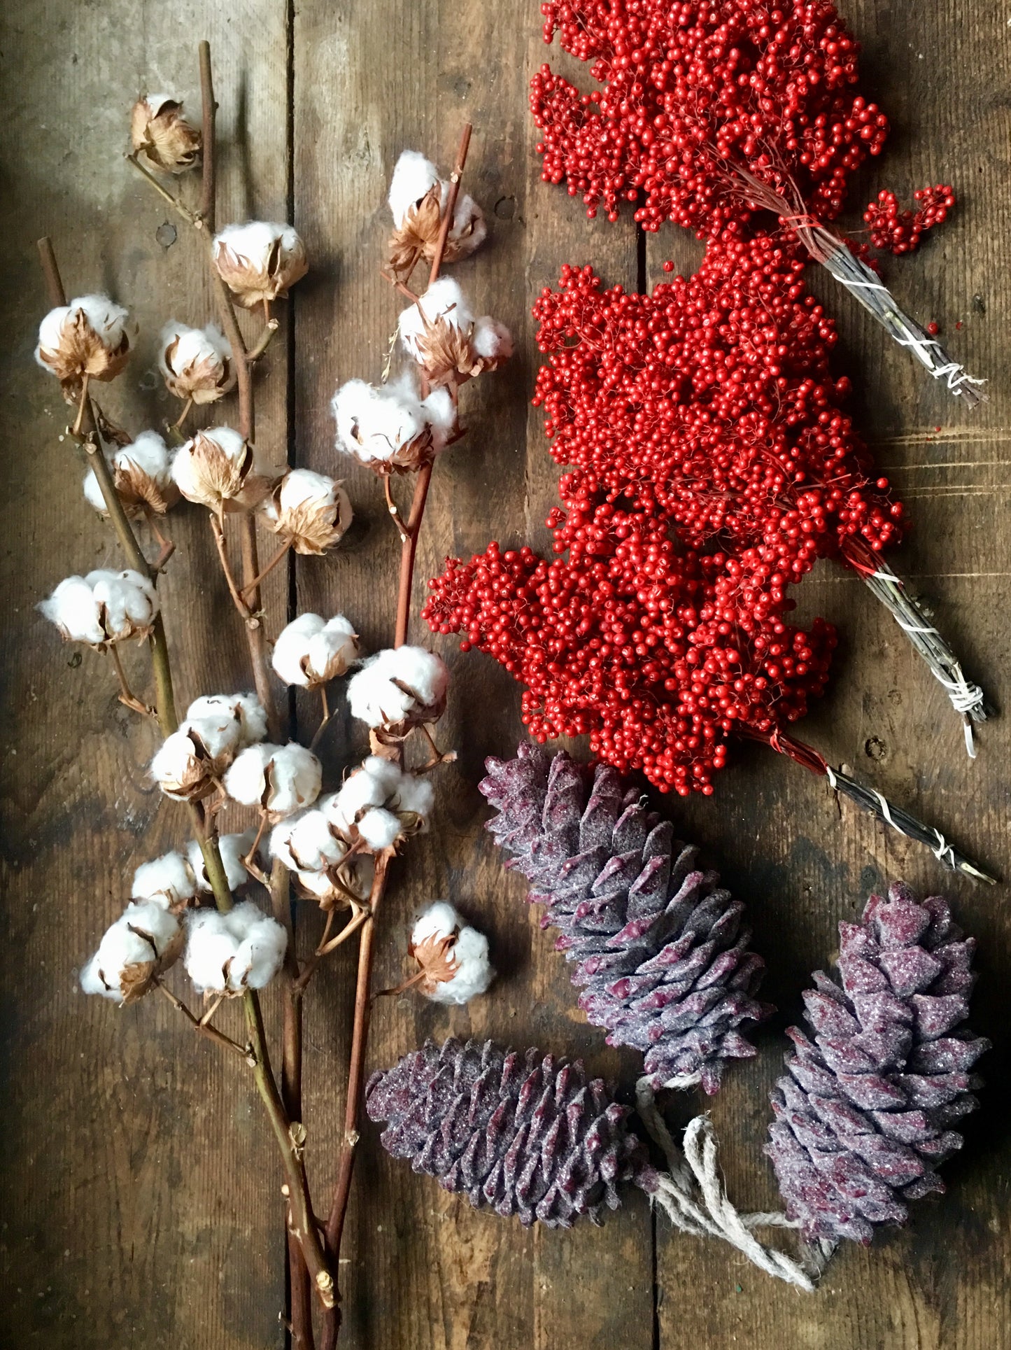
{"label": "middle bunch of red berries, between the top and lowest bunches", "polygon": [[798,254],[730,236],[652,296],[602,290],[590,267],[541,293],[551,355],[533,402],[568,467],[548,520],[559,551],[593,549],[593,521],[621,502],[688,548],[733,554],[749,608],[769,587],[777,602],[818,558],[898,541],[902,505],[840,408],[836,328],[804,293]]}

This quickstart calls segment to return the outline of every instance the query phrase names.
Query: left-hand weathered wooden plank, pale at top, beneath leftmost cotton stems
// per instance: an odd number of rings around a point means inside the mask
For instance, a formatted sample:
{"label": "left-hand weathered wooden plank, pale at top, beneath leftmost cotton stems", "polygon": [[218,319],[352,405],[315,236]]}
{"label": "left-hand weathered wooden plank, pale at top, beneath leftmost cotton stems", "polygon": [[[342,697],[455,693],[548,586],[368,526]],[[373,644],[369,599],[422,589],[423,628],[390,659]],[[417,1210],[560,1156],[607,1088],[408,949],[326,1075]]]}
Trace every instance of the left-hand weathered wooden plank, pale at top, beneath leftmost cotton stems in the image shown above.
{"label": "left-hand weathered wooden plank, pale at top, beneath leftmost cotton stems", "polygon": [[[11,1345],[209,1350],[278,1336],[279,1200],[265,1187],[273,1143],[251,1083],[161,1000],[117,1015],[77,988],[134,867],[186,832],[146,778],[153,732],[115,701],[111,670],[61,648],[34,609],[62,576],[121,563],[81,497],[84,466],[59,437],[66,408],[31,351],[46,309],[35,239],[49,232],[72,294],[108,289],[140,321],[136,359],[103,404],[135,431],[166,417],[158,331],[170,316],[202,324],[213,305],[198,240],[123,161],[130,105],[142,89],[169,88],[198,112],[196,43],[209,38],[228,165],[220,219],[283,216],[285,18],[278,0],[250,0],[242,23],[204,4],[169,12],[127,0],[4,12],[0,138],[12,178],[1,378],[12,452],[3,463],[0,1206]],[[283,342],[270,364],[261,440],[274,437],[283,458]],[[184,707],[248,684],[202,514],[171,514],[178,551],[163,582]],[[143,686],[143,652],[128,664]]]}

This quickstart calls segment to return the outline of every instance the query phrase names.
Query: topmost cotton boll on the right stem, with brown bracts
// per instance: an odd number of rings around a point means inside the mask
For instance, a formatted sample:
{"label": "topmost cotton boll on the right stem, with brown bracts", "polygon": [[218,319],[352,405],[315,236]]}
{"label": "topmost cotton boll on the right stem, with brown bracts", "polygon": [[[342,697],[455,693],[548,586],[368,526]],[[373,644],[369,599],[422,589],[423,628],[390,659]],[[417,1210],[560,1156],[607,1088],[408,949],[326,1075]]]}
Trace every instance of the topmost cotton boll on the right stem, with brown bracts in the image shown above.
{"label": "topmost cotton boll on the right stem, with brown bracts", "polygon": [[[435,256],[448,196],[449,182],[439,177],[432,161],[417,150],[405,150],[393,170],[389,196],[394,225],[389,258],[397,275],[409,275],[420,258],[431,262]],[[472,197],[458,197],[443,262],[466,258],[486,236],[481,207]]]}

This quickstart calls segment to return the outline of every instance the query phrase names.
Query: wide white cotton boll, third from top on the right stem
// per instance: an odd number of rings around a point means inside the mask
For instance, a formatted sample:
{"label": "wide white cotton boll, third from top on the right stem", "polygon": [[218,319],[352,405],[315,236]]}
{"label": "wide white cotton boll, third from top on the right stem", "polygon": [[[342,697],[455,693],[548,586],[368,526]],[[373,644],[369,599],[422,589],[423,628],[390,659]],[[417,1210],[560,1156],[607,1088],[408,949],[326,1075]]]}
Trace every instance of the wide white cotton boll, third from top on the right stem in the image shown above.
{"label": "wide white cotton boll, third from top on the right stem", "polygon": [[378,387],[350,379],[331,408],[337,450],[377,474],[406,474],[431,463],[456,429],[456,409],[445,390],[421,400],[409,377]]}

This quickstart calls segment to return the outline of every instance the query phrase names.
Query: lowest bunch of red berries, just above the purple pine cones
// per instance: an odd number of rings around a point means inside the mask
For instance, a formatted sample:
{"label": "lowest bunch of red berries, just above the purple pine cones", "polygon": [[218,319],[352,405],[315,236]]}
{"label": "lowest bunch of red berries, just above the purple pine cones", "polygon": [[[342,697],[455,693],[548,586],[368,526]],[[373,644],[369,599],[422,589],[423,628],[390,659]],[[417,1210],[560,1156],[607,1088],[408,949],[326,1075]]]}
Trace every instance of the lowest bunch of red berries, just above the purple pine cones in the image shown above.
{"label": "lowest bunch of red berries, just above the purple pine cones", "polygon": [[726,559],[675,552],[660,521],[613,513],[601,524],[593,552],[567,562],[494,543],[466,564],[448,559],[422,614],[526,686],[536,740],[589,736],[621,772],[710,795],[732,734],[768,740],[804,714],[836,633],[822,620],[804,633],[775,612],[744,618],[721,602]]}

